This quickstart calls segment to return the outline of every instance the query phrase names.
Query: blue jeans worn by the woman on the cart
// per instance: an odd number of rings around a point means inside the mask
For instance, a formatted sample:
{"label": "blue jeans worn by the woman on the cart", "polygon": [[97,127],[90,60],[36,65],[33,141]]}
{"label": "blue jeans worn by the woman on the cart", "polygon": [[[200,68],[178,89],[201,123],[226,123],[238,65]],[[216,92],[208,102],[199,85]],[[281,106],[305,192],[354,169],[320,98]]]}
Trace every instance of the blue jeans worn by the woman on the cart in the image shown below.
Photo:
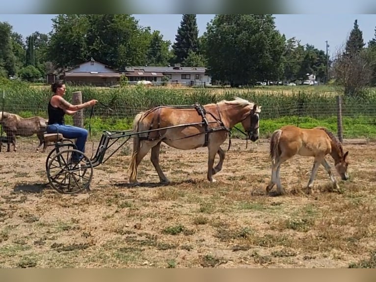
{"label": "blue jeans worn by the woman on the cart", "polygon": [[77,139],[77,149],[85,152],[85,143],[87,139],[87,130],[81,127],[66,124],[50,124],[47,126],[47,133],[61,133],[66,139]]}

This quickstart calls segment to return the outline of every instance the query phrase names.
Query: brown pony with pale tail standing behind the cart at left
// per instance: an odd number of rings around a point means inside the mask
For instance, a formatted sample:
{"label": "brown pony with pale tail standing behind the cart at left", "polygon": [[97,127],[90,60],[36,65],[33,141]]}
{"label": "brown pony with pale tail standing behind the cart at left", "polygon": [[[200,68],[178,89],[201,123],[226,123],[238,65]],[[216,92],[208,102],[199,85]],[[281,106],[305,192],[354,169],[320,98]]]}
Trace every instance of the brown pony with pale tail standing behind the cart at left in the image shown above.
{"label": "brown pony with pale tail standing behind the cart at left", "polygon": [[36,134],[39,139],[39,145],[36,149],[38,151],[40,146],[44,143],[44,128],[40,127],[41,122],[47,123],[47,119],[41,116],[23,118],[18,114],[0,112],[0,124],[2,125],[3,131],[9,140],[7,142],[8,148],[6,151],[10,151],[10,143],[13,144],[13,150],[17,150],[16,136],[29,137],[34,134]]}

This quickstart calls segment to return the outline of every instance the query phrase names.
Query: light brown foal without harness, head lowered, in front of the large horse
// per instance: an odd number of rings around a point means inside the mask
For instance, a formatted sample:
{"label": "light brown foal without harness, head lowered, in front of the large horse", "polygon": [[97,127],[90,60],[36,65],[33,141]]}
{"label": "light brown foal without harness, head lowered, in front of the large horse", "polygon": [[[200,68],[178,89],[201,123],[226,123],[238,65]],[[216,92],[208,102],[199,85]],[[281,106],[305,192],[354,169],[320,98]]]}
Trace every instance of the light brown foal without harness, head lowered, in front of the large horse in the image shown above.
{"label": "light brown foal without harness, head lowered, in front of the large horse", "polygon": [[314,157],[311,177],[307,185],[307,193],[313,193],[313,181],[319,166],[322,165],[328,172],[335,189],[339,189],[337,181],[330,170],[325,156],[330,154],[334,160],[335,168],[342,180],[349,178],[347,173],[348,163],[346,157],[349,151],[343,152],[341,142],[329,130],[323,127],[302,129],[294,125],[286,125],[273,132],[270,138],[271,181],[267,186],[267,194],[277,184],[277,193],[284,195],[281,186],[279,169],[283,162],[296,154],[304,157]]}

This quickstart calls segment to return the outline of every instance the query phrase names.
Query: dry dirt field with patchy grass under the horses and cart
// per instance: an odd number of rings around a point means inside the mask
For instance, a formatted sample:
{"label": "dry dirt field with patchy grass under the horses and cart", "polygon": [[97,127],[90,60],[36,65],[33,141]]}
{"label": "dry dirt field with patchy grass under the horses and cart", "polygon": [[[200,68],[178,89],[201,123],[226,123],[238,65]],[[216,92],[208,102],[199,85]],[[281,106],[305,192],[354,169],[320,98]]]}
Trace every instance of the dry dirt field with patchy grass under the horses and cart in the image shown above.
{"label": "dry dirt field with patchy grass under the horses and cart", "polygon": [[144,185],[129,187],[132,151],[124,146],[94,168],[90,192],[69,196],[42,185],[47,152],[20,143],[0,153],[0,267],[376,267],[375,145],[345,142],[351,163],[342,193],[328,191],[321,168],[317,193],[303,194],[313,160],[295,157],[281,168],[288,194],[267,197],[268,141],[246,149],[232,140],[216,183],[206,180],[206,148],[162,146],[172,183],[157,184],[148,155],[139,168]]}

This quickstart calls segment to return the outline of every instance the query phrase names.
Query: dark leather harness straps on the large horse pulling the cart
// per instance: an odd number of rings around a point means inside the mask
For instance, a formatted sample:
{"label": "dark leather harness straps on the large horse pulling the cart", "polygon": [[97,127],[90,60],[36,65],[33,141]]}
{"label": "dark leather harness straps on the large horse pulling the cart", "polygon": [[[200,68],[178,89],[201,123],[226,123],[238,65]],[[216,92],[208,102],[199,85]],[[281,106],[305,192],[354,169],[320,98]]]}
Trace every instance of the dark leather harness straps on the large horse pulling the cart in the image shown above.
{"label": "dark leather harness straps on the large horse pulling the cart", "polygon": [[[152,121],[151,121],[151,124],[150,124],[150,127],[149,127],[148,134],[147,134],[146,137],[140,137],[141,140],[155,141],[155,140],[161,139],[162,136],[161,136],[161,131],[160,130],[157,130],[157,136],[156,137],[152,137],[150,135],[152,133],[152,131],[153,132],[155,131],[155,129],[153,129],[153,126],[154,126],[154,122],[155,122],[155,117],[156,116],[157,116],[157,120],[156,120],[157,128],[156,129],[161,129],[161,130],[162,129],[168,129],[168,127],[167,128],[161,128],[161,108],[163,108],[163,107],[164,108],[166,108],[166,107],[167,108],[175,108],[175,109],[195,109],[197,111],[198,115],[200,115],[201,118],[202,118],[201,123],[197,123],[197,125],[198,124],[203,124],[204,125],[204,129],[205,129],[205,131],[203,132],[205,134],[205,141],[204,141],[203,147],[208,146],[208,143],[209,143],[209,133],[216,132],[216,131],[219,131],[219,130],[226,130],[229,133],[229,136],[230,136],[229,147],[230,147],[230,144],[231,144],[231,129],[228,128],[228,127],[226,127],[223,124],[221,116],[220,116],[218,105],[216,105],[217,112],[218,112],[218,118],[217,118],[212,113],[207,112],[205,110],[205,108],[202,105],[198,104],[198,103],[195,103],[194,105],[187,105],[187,106],[168,106],[168,105],[158,106],[156,108],[156,112],[157,113],[153,115],[153,118],[152,118]],[[217,127],[209,127],[209,123],[211,123],[211,122],[208,121],[208,119],[206,117],[207,114],[210,114],[215,119],[215,121],[213,121],[213,122],[218,123],[219,126],[217,126]],[[193,124],[188,123],[188,124],[182,124],[180,126],[189,126],[189,125],[193,125]],[[202,134],[202,133],[197,133],[197,134],[189,135],[189,136],[186,136],[186,137],[183,137],[183,138],[179,138],[179,139],[175,139],[175,140],[186,139],[186,138],[197,136],[197,135],[200,135],[200,134]]]}

